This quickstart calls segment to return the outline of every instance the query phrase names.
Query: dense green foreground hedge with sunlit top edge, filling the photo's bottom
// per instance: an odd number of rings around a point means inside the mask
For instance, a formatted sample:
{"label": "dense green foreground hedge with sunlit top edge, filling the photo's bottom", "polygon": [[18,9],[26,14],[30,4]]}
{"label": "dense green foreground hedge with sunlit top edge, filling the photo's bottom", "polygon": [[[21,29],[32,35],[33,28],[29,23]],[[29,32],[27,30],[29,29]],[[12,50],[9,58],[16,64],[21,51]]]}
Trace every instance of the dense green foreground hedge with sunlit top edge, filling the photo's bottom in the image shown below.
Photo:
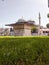
{"label": "dense green foreground hedge with sunlit top edge, filling the photo's bottom", "polygon": [[0,65],[49,65],[49,37],[0,37]]}

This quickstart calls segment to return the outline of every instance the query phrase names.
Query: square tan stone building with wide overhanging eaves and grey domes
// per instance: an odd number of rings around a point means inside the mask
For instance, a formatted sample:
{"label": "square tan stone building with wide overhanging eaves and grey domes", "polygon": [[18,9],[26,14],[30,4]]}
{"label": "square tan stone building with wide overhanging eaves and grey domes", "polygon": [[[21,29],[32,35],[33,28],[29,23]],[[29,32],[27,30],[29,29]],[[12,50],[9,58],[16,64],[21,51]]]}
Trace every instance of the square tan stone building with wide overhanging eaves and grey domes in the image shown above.
{"label": "square tan stone building with wide overhanging eaves and grey domes", "polygon": [[34,21],[19,19],[14,24],[7,24],[6,26],[12,26],[15,36],[31,36],[31,28],[34,26]]}

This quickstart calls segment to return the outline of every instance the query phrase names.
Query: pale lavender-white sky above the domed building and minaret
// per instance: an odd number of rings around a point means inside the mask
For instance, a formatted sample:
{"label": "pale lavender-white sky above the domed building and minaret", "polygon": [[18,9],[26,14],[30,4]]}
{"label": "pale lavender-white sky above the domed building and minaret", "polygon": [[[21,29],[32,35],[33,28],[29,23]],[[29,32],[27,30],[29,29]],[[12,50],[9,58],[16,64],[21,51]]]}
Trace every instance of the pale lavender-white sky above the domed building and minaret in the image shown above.
{"label": "pale lavender-white sky above the domed building and minaret", "polygon": [[5,24],[15,23],[18,19],[34,20],[39,23],[39,12],[41,15],[41,25],[49,23],[47,14],[49,13],[48,0],[0,0],[0,27]]}

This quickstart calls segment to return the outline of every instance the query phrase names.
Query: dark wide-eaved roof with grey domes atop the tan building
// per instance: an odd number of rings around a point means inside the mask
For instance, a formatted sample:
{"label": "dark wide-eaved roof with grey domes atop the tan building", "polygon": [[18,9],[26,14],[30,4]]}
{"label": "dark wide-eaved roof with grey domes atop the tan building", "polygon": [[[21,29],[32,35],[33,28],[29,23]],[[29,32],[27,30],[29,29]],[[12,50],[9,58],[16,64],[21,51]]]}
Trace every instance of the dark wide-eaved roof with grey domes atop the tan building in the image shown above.
{"label": "dark wide-eaved roof with grey domes atop the tan building", "polygon": [[7,24],[6,26],[13,26],[13,25],[21,25],[21,24],[30,24],[30,25],[34,25],[35,24],[35,21],[32,21],[32,20],[24,20],[24,19],[19,19],[16,23],[13,23],[13,24]]}

